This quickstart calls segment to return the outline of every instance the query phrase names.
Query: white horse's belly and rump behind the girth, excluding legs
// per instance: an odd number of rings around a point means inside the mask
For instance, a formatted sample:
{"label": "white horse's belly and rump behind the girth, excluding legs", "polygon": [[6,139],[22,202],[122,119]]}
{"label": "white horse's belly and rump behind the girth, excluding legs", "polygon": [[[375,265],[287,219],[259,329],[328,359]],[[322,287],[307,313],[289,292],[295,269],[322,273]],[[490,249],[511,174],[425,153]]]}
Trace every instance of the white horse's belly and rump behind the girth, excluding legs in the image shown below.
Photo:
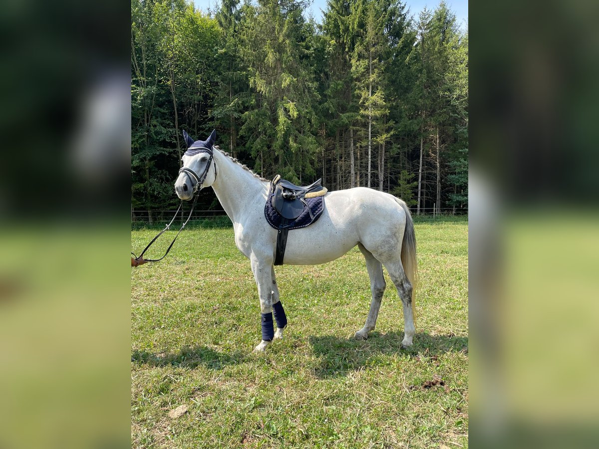
{"label": "white horse's belly and rump behind the girth, excluding legs", "polygon": [[394,196],[365,187],[337,190],[325,196],[325,210],[316,223],[289,231],[283,263],[331,262],[358,243],[373,252],[395,245],[397,239],[401,245],[405,224]]}

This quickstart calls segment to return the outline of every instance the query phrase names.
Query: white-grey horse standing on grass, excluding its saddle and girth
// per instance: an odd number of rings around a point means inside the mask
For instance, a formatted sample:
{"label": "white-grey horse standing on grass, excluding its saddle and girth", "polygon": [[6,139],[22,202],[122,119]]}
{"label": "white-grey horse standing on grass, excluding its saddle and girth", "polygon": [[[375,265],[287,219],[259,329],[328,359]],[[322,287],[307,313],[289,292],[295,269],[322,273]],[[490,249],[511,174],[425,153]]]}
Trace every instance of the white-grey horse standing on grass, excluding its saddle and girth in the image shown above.
{"label": "white-grey horse standing on grass, excluding its saddle and girth", "polygon": [[[235,245],[250,259],[258,286],[263,338],[255,351],[264,351],[273,338],[282,338],[286,324],[273,268],[277,230],[264,218],[270,181],[260,178],[214,147],[215,132],[206,141],[194,141],[186,133],[184,137],[188,150],[175,183],[177,196],[191,199],[196,190],[211,186],[233,222]],[[383,277],[385,266],[403,304],[402,344],[404,347],[412,345],[418,275],[416,238],[412,216],[401,199],[365,187],[326,193],[320,219],[313,225],[289,232],[283,262],[288,265],[330,262],[356,245],[366,259],[372,291],[370,312],[364,327],[356,332],[356,338],[368,338],[368,332],[376,325],[386,286]],[[265,333],[265,326],[273,327],[273,309],[277,330],[270,338],[269,333]]]}

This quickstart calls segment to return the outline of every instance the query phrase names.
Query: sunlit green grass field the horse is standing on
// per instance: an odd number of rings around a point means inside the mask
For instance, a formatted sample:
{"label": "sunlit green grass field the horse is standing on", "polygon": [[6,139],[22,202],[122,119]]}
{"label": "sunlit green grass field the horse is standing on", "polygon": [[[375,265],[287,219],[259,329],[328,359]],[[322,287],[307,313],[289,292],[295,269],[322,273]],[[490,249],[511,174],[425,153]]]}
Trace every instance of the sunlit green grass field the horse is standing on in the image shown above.
{"label": "sunlit green grass field the horse is standing on", "polygon": [[[143,248],[155,230],[132,232]],[[254,354],[260,308],[232,228],[181,233],[132,270],[132,444],[149,447],[468,446],[468,228],[416,224],[414,346],[386,277],[377,328],[357,248],[326,265],[276,268],[285,339]],[[168,243],[167,243],[168,244]],[[155,254],[159,250],[156,249]],[[444,381],[422,387],[435,375]],[[186,405],[187,412],[168,412]]]}

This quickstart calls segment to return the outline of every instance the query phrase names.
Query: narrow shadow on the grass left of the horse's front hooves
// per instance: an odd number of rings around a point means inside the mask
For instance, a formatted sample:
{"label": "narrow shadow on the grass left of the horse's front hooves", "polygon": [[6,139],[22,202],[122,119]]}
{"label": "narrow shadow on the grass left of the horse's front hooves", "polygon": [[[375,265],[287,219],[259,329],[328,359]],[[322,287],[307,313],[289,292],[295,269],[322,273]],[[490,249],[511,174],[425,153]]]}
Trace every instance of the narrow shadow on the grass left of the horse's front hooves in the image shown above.
{"label": "narrow shadow on the grass left of the horse's front hooves", "polygon": [[177,353],[152,354],[147,351],[135,350],[131,354],[131,362],[137,365],[151,366],[180,366],[181,368],[197,368],[205,366],[209,369],[223,369],[228,365],[239,365],[244,363],[245,354],[241,351],[234,353],[220,353],[205,346],[184,346]]}

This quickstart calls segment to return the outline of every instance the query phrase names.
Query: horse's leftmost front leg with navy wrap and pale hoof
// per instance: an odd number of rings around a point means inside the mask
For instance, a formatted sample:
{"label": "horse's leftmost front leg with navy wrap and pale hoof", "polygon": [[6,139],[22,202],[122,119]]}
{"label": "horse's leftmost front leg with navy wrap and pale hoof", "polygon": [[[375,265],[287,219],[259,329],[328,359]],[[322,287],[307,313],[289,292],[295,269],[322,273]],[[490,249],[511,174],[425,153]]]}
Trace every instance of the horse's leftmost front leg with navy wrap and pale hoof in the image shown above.
{"label": "horse's leftmost front leg with navy wrap and pale hoof", "polygon": [[266,350],[266,347],[274,338],[273,276],[271,271],[273,260],[265,260],[265,258],[252,254],[250,262],[252,263],[252,272],[256,280],[256,286],[258,286],[258,297],[260,299],[262,341],[254,349],[255,352],[258,352]]}

